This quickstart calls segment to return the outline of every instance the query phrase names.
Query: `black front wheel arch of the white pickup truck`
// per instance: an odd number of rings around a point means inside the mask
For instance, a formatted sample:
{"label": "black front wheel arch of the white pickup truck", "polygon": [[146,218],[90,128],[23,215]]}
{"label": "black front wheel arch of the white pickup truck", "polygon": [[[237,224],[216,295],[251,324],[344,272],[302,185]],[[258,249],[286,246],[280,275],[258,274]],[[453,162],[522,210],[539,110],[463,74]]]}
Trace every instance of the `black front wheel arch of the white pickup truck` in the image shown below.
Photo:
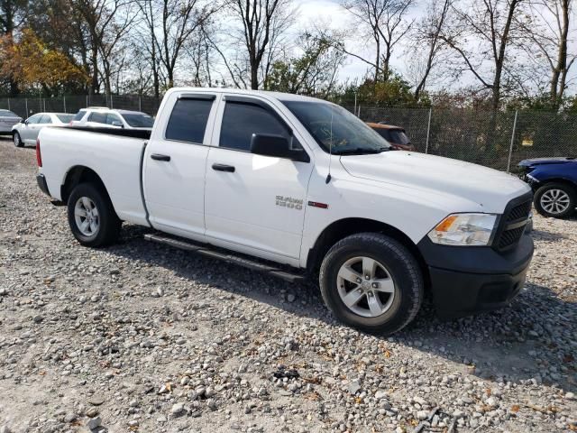
{"label": "black front wheel arch of the white pickup truck", "polygon": [[307,271],[316,273],[325,258],[328,250],[341,239],[358,233],[380,233],[388,235],[399,243],[405,245],[410,253],[417,259],[421,268],[425,287],[430,286],[428,267],[423,254],[418,250],[417,245],[401,230],[395,226],[383,223],[370,218],[351,217],[334,221],[321,232],[316,238],[316,242],[307,255]]}

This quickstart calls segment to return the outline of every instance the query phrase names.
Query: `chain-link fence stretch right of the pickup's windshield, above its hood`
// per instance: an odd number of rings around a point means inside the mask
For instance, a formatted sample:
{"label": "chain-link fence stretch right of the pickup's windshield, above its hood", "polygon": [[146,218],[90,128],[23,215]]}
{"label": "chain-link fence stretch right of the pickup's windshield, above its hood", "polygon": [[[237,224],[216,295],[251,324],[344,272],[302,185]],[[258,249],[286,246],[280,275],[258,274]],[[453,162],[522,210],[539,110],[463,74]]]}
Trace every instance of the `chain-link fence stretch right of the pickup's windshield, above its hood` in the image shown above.
{"label": "chain-link fence stretch right of the pickup's windshield, above its hood", "polygon": [[418,152],[515,171],[529,158],[577,156],[577,115],[518,110],[346,106],[365,122],[403,127]]}

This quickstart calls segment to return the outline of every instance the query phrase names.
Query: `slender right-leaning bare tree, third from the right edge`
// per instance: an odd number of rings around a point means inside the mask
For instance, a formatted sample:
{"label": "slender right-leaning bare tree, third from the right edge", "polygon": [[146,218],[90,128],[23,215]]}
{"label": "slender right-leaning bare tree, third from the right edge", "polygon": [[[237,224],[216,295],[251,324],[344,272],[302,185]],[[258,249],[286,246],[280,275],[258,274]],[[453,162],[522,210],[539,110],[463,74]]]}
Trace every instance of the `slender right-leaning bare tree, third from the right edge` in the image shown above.
{"label": "slender right-leaning bare tree, third from the right edge", "polygon": [[[412,35],[413,47],[410,63],[417,71],[415,100],[418,101],[426,88],[431,71],[436,66],[440,54],[446,48],[441,33],[449,15],[454,0],[433,0],[426,10],[426,14],[414,27]],[[422,53],[423,55],[419,56]],[[420,57],[420,59],[419,59]],[[417,60],[416,60],[417,59]],[[419,61],[420,60],[420,61]]]}

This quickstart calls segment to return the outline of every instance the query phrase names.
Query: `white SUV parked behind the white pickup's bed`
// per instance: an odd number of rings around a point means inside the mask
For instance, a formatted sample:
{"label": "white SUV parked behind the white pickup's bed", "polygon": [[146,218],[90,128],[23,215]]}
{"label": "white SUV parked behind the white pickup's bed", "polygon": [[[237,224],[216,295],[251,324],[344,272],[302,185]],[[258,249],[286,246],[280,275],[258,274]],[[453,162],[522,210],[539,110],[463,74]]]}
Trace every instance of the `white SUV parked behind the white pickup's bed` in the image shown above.
{"label": "white SUV parked behind the white pickup's bed", "polygon": [[71,123],[77,126],[109,127],[151,130],[154,119],[140,111],[112,110],[103,107],[89,107],[78,111]]}

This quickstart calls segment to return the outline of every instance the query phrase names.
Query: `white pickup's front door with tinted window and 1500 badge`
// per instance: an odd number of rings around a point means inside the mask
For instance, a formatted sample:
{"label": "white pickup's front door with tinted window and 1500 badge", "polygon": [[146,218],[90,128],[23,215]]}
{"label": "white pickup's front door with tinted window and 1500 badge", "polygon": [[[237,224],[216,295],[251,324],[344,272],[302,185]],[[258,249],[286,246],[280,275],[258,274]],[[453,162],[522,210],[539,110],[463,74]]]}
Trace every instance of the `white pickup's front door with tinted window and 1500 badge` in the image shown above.
{"label": "white pickup's front door with tinted window and 1500 badge", "polygon": [[259,97],[225,96],[206,162],[206,236],[285,263],[298,259],[312,163],[250,152],[252,134],[298,138]]}

